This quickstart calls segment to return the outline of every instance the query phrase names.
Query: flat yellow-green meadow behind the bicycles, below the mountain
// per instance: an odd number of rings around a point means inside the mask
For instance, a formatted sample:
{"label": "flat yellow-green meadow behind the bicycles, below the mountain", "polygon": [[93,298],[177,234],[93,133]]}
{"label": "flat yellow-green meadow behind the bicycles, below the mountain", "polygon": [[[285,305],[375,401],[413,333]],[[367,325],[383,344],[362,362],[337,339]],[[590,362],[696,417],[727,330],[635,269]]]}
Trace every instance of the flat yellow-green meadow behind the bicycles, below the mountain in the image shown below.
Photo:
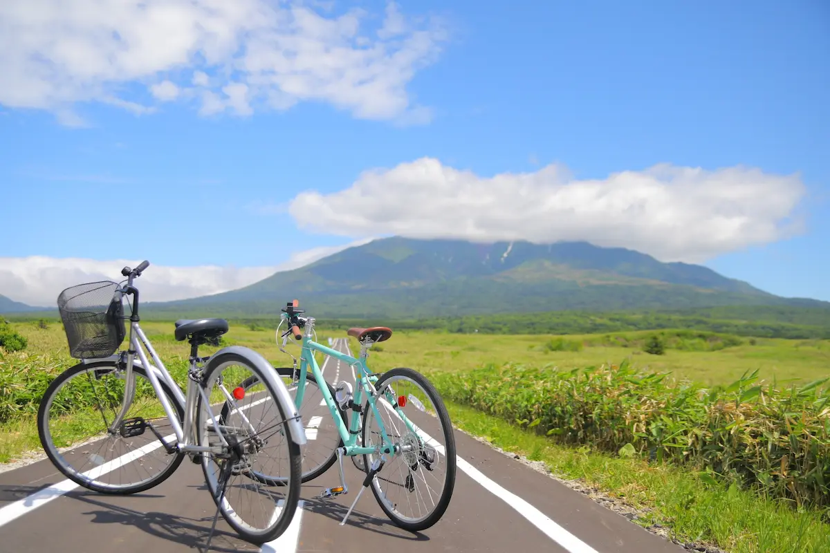
{"label": "flat yellow-green meadow behind the bicycles, below the mountain", "polygon": [[[164,358],[185,358],[188,345],[173,339],[173,323],[142,322],[142,328]],[[12,327],[27,337],[27,352],[48,353],[66,359],[68,348],[61,325],[50,323],[46,329],[37,323],[12,323]],[[671,331],[669,331],[671,332]],[[395,332],[388,342],[375,345],[369,363],[375,371],[393,366],[411,366],[417,370],[466,371],[490,363],[550,365],[571,369],[619,363],[628,359],[635,366],[655,371],[671,371],[676,378],[688,378],[704,384],[722,384],[735,381],[745,371],[759,369],[766,381],[804,382],[830,375],[830,340],[787,340],[782,338],[741,337],[740,345],[717,351],[681,351],[667,349],[665,355],[650,355],[639,347],[613,347],[611,338],[627,342],[650,336],[654,332],[620,332],[615,334],[570,335],[569,341],[583,342],[581,351],[549,351],[545,344],[559,336],[545,334],[505,336],[499,334],[452,334],[447,332]],[[342,331],[320,331],[319,342],[328,337],[344,337]],[[272,330],[251,330],[244,325],[231,327],[225,337],[227,343],[251,347],[261,352],[275,366],[291,363],[291,358],[280,352]],[[592,345],[592,342],[598,345]],[[357,342],[351,341],[353,350]],[[203,347],[205,354],[215,347]],[[288,351],[299,354],[293,340]]]}

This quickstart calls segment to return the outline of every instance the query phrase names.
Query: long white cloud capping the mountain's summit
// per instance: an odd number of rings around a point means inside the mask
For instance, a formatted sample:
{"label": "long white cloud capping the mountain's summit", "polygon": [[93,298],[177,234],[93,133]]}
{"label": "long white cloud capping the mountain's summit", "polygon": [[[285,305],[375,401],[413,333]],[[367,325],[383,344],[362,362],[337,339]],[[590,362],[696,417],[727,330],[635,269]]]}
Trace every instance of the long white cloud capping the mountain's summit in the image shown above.
{"label": "long white cloud capping the mountain's summit", "polygon": [[798,176],[740,166],[578,180],[557,165],[481,177],[421,158],[364,172],[340,192],[300,193],[289,212],[300,227],[352,237],[588,240],[700,263],[800,231],[788,218],[804,192]]}

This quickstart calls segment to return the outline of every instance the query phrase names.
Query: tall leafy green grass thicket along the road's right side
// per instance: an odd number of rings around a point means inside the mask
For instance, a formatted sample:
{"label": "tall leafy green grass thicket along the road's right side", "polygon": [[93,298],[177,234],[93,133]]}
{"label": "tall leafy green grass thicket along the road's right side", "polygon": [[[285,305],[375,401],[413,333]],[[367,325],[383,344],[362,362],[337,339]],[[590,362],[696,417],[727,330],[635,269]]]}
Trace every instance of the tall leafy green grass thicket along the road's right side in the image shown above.
{"label": "tall leafy green grass thicket along the road's right side", "polygon": [[830,507],[828,379],[779,390],[758,383],[757,371],[713,388],[665,376],[626,362],[431,375],[448,399],[561,443],[678,463],[798,507]]}

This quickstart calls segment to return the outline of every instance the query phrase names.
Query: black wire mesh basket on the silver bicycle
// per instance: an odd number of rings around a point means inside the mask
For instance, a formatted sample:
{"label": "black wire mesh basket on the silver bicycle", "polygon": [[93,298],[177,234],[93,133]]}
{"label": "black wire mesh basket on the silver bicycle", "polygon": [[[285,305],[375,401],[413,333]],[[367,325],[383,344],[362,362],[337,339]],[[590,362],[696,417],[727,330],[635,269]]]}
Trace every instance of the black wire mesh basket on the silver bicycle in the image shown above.
{"label": "black wire mesh basket on the silver bicycle", "polygon": [[115,282],[93,282],[67,288],[57,297],[71,357],[110,357],[124,342],[127,331],[118,289]]}

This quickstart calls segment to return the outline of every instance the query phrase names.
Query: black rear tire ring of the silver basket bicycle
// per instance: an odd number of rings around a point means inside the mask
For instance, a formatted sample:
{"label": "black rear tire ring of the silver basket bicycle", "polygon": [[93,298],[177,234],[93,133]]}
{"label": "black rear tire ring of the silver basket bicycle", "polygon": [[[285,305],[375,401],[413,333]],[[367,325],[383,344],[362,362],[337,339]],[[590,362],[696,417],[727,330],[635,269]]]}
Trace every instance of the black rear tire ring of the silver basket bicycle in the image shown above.
{"label": "black rear tire ring of the silver basket bicycle", "polygon": [[[216,371],[218,368],[222,367],[228,363],[235,363],[238,365],[246,366],[248,369],[251,370],[256,376],[257,380],[261,381],[262,386],[265,386],[267,392],[273,398],[274,403],[276,404],[277,410],[279,411],[279,415],[281,420],[283,421],[282,425],[282,432],[286,435],[286,444],[288,448],[288,454],[290,457],[289,466],[290,466],[290,474],[286,478],[287,484],[289,486],[288,494],[286,495],[285,504],[281,507],[281,514],[279,515],[276,523],[270,529],[266,529],[265,531],[250,531],[244,526],[242,526],[234,517],[231,516],[228,509],[225,505],[219,501],[219,497],[217,496],[217,489],[215,483],[212,482],[211,475],[208,473],[208,463],[211,463],[211,458],[207,455],[202,455],[202,469],[205,477],[205,483],[207,484],[207,490],[210,492],[211,497],[213,498],[213,502],[219,508],[219,511],[222,512],[222,517],[227,521],[227,523],[232,526],[232,528],[237,531],[237,533],[242,536],[245,541],[248,541],[253,544],[262,544],[266,541],[273,541],[276,539],[277,536],[281,536],[288,526],[291,524],[291,520],[295,516],[296,507],[298,502],[300,501],[300,473],[302,470],[302,458],[300,457],[300,445],[296,444],[294,440],[291,438],[291,425],[287,423],[287,417],[285,410],[283,410],[283,406],[281,402],[278,400],[279,395],[276,393],[275,390],[271,389],[269,386],[268,381],[263,378],[261,375],[260,369],[251,361],[249,361],[246,357],[242,357],[238,353],[233,352],[226,352],[220,353],[218,355],[214,355],[207,361],[207,365],[204,367],[204,376],[203,381],[199,384],[199,386],[204,386],[205,383],[211,381],[211,376],[213,371]],[[210,390],[206,390],[206,395],[210,397]],[[227,404],[227,402],[224,402]],[[209,405],[208,405],[209,407]],[[223,405],[222,410],[225,409],[225,405]],[[196,428],[200,429],[203,426],[203,399],[202,395],[199,395],[197,410],[196,410]],[[227,420],[225,421],[227,422]],[[203,433],[198,433],[198,442],[199,445],[206,445],[203,443]],[[225,498],[227,501],[227,497]],[[229,505],[229,503],[228,503]],[[231,510],[233,508],[231,507]],[[235,512],[235,511],[234,511]]]}

